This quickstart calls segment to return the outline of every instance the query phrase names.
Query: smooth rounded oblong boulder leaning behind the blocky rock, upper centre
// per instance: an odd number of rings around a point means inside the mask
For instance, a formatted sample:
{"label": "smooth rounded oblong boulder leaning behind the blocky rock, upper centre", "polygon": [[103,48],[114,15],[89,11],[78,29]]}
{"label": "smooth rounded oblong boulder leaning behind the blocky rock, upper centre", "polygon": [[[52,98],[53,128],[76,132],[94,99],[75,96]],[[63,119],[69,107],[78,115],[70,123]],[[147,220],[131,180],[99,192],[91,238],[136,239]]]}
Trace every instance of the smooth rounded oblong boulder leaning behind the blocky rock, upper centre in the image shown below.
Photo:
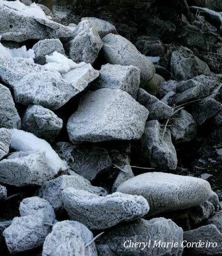
{"label": "smooth rounded oblong boulder leaning behind the blocky rock, upper centre", "polygon": [[154,76],[155,68],[152,62],[141,55],[136,47],[121,35],[106,35],[103,38],[102,52],[110,64],[138,67],[141,84],[146,84]]}

